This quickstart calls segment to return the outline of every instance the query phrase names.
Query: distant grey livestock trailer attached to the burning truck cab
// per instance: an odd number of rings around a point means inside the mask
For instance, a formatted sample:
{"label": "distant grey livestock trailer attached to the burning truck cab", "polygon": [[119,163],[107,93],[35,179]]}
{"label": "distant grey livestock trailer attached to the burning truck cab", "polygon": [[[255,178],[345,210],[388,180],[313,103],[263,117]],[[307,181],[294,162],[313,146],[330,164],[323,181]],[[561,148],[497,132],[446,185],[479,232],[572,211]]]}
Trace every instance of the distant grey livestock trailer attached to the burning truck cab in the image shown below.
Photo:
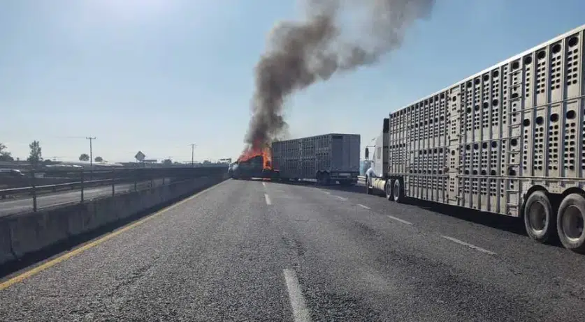
{"label": "distant grey livestock trailer attached to the burning truck cab", "polygon": [[330,133],[275,141],[272,160],[280,180],[315,180],[322,185],[355,185],[359,176],[360,135]]}

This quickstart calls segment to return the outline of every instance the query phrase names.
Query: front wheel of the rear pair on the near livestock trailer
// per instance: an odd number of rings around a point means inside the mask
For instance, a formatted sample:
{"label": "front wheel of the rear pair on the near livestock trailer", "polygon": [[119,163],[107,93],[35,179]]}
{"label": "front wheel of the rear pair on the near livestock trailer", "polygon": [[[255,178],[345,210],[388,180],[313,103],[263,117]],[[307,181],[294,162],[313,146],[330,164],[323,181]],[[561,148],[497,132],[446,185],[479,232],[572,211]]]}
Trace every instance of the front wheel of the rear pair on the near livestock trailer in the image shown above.
{"label": "front wheel of the rear pair on the near livestock trailer", "polygon": [[524,206],[524,227],[526,233],[538,243],[547,242],[556,231],[556,219],[551,201],[544,191],[535,191]]}

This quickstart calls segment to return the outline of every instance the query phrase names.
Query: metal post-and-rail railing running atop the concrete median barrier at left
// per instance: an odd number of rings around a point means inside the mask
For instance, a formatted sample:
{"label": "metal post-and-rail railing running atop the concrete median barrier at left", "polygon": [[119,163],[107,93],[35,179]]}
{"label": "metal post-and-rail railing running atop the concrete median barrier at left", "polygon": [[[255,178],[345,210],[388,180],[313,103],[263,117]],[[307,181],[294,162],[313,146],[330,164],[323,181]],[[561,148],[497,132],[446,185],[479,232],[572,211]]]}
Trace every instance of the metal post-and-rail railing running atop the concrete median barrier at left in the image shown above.
{"label": "metal post-and-rail railing running atop the concrete median barrier at left", "polygon": [[[14,204],[21,200],[18,203],[22,205],[22,199],[30,199],[31,210],[36,211],[39,208],[39,199],[43,198],[52,199],[50,206],[56,206],[58,199],[63,203],[83,202],[85,199],[150,189],[178,181],[219,175],[226,171],[227,167],[27,171],[22,176],[0,178],[0,215],[7,211],[3,211],[3,208],[9,208],[6,203]],[[58,195],[65,197],[55,197]]]}

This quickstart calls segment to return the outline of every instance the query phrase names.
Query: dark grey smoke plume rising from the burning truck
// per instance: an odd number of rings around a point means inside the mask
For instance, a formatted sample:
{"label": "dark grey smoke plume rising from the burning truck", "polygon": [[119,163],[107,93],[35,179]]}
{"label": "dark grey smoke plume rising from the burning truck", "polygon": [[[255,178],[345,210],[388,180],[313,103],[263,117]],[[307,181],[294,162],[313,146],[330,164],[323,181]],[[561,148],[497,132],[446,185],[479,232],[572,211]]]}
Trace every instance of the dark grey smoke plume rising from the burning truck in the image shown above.
{"label": "dark grey smoke plume rising from the burning truck", "polygon": [[[377,63],[430,15],[434,0],[306,0],[305,19],[280,22],[258,62],[247,149],[287,131],[284,100],[335,72]],[[352,37],[352,32],[354,37]]]}

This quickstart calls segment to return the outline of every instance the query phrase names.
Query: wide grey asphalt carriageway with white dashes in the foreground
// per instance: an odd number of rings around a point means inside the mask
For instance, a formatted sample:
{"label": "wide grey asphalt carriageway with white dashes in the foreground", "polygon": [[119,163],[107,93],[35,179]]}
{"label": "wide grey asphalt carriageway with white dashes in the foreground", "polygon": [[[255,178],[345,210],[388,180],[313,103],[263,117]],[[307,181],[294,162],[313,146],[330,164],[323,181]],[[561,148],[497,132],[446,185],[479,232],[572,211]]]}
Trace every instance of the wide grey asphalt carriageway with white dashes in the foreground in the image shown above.
{"label": "wide grey asphalt carriageway with white dashes in the foreground", "polygon": [[0,320],[582,321],[584,256],[461,217],[226,181],[4,279]]}

